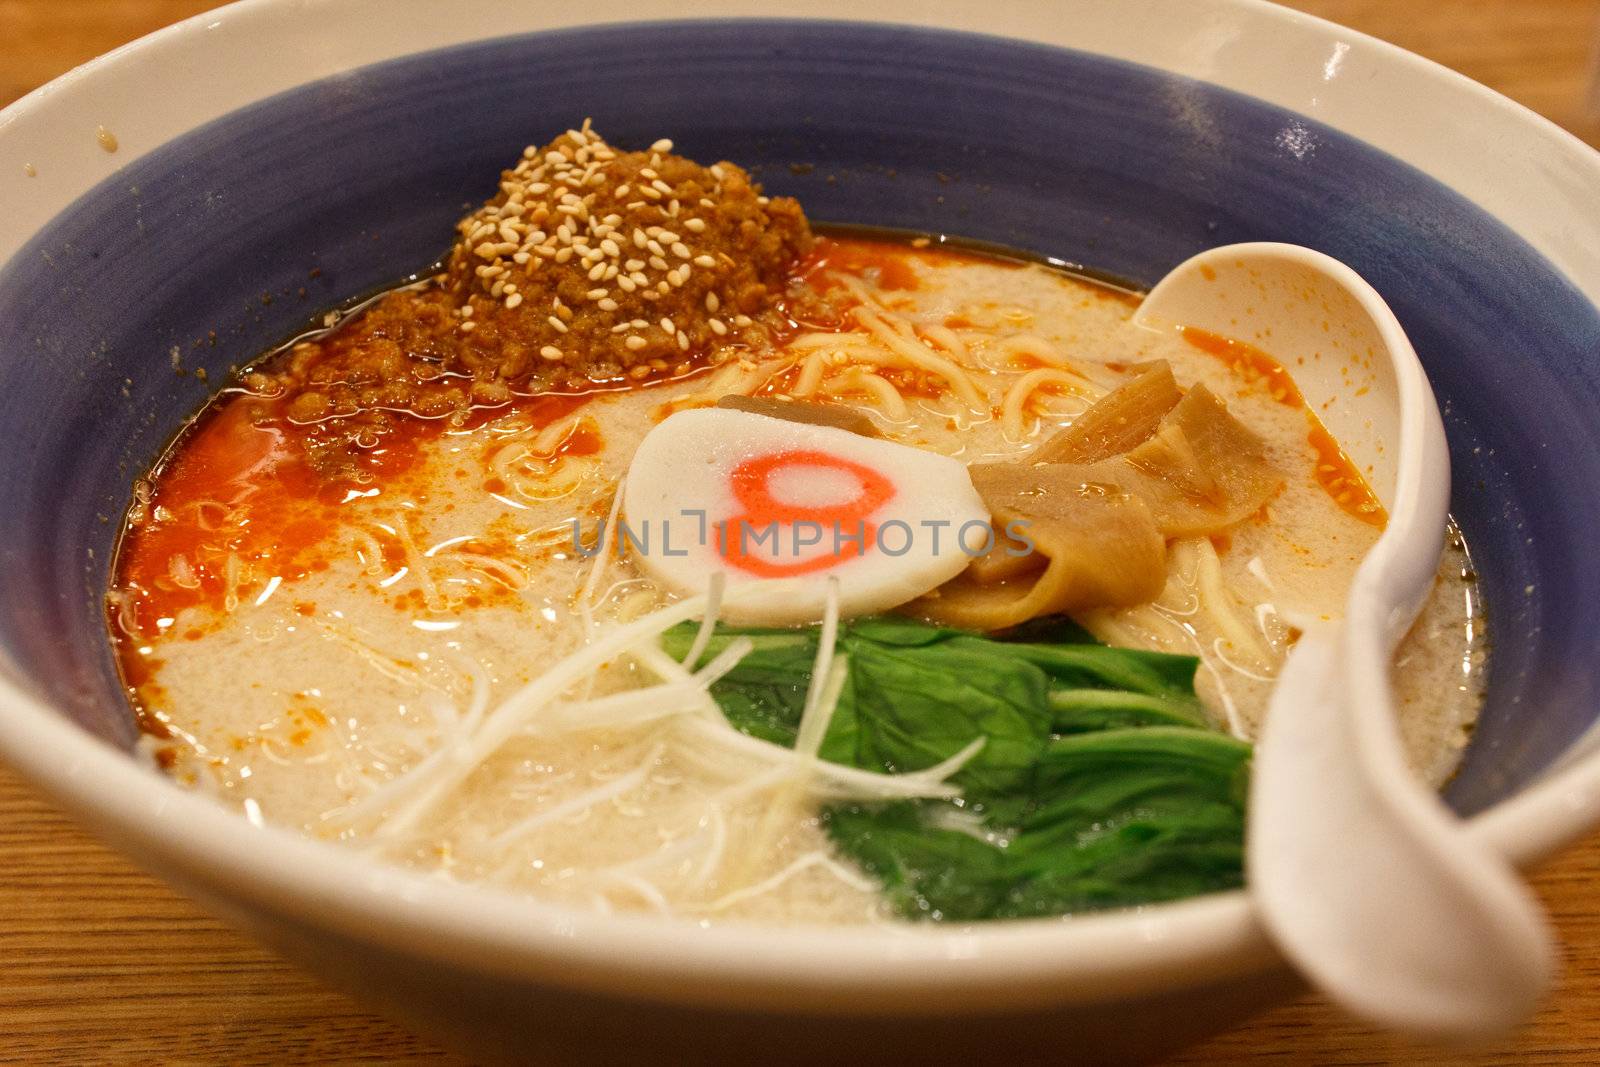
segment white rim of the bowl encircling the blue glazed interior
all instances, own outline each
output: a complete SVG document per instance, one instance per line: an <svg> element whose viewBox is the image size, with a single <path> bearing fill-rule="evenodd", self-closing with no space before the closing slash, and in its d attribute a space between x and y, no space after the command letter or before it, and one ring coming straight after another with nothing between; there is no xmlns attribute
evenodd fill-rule
<svg viewBox="0 0 1600 1067"><path fill-rule="evenodd" d="M405 16L397 6L408 8ZM37 160L42 176L22 176L16 173L21 168L0 174L0 200L16 206L0 219L0 262L118 166L267 94L470 40L680 14L674 0L634 0L626 13L622 8L586 5L582 18L571 18L565 5L554 3L243 0L179 22L0 110L6 158ZM760 6L749 0L710 0L694 11L696 18L758 13ZM790 5L786 16L859 21L859 5L808 0ZM1154 34L1152 42L1146 32L1181 19L1189 19L1182 50L1174 34ZM1576 211L1582 194L1600 187L1600 154L1518 104L1392 45L1262 0L1062 0L1048 6L880 0L869 21L1082 48L1301 110L1474 200L1600 302L1595 213L1589 210L1586 219ZM1238 27L1274 34L1285 62L1270 69L1219 62ZM1194 48L1197 35L1214 46ZM317 48L288 50L312 37ZM264 54L296 54L299 61L267 64L259 59ZM1318 93L1307 93L1304 70L1315 66L1309 62L1314 56L1326 77ZM166 78L163 94L154 101L128 91L150 67L160 67ZM1355 88L1371 80L1379 85ZM1411 101L1413 110L1440 101L1462 106L1474 126L1418 136L1389 114L1394 109L1373 104L1384 93ZM1307 99L1314 107L1304 107ZM99 115L104 118L96 122ZM126 152L106 155L93 147L94 125L117 131ZM85 136L61 136L70 128ZM1496 136L1523 150L1469 152ZM1526 195L1526 182L1539 176L1546 187L1557 184L1555 195ZM1574 219L1581 224L1573 226ZM6 712L0 715L0 755L142 862L213 901L246 901L280 915L304 915L307 923L368 944L462 968L662 1001L918 1014L1096 1003L1278 963L1243 893L1070 921L701 929L453 885L286 830L251 827L53 712L13 681L19 675L14 665L0 659L0 707ZM1528 864L1597 822L1600 753L1589 752L1472 825L1510 859Z"/></svg>

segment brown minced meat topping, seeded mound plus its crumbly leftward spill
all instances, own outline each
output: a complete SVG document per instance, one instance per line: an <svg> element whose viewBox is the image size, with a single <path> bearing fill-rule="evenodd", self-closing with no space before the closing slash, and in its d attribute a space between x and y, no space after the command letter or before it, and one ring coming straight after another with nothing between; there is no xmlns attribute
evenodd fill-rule
<svg viewBox="0 0 1600 1067"><path fill-rule="evenodd" d="M246 376L314 459L395 418L688 373L765 347L811 248L800 205L670 141L619 152L586 122L530 146L458 226L445 270Z"/></svg>

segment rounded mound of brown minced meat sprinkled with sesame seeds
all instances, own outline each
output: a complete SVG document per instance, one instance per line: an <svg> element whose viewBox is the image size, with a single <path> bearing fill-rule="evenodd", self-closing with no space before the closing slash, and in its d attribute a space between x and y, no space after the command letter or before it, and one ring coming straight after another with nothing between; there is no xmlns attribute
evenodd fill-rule
<svg viewBox="0 0 1600 1067"><path fill-rule="evenodd" d="M670 141L618 152L587 123L523 152L459 230L446 283L464 358L507 376L642 378L741 338L811 245L800 205L733 163L701 166Z"/></svg>

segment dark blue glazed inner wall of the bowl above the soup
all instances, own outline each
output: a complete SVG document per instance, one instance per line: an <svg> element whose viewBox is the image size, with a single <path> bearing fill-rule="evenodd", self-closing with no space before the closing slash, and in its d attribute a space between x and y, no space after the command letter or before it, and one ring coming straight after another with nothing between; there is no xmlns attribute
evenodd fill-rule
<svg viewBox="0 0 1600 1067"><path fill-rule="evenodd" d="M586 115L616 144L744 163L813 219L1146 285L1230 242L1344 259L1434 381L1483 576L1490 699L1450 801L1507 797L1600 712L1600 315L1533 248L1392 157L1200 82L803 21L563 30L354 70L163 146L37 234L0 267L0 653L42 699L131 744L101 597L133 478L229 368L430 264L501 166Z"/></svg>

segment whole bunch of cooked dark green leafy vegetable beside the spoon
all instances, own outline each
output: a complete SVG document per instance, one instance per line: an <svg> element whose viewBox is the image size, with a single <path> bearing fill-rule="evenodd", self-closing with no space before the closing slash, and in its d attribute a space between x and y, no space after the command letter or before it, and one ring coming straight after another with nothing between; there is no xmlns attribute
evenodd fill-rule
<svg viewBox="0 0 1600 1067"><path fill-rule="evenodd" d="M694 633L662 646L682 657ZM818 627L717 627L701 662L734 637L755 648L712 696L738 729L792 745ZM822 813L902 915L1062 915L1242 883L1250 745L1210 726L1195 657L1106 648L1062 621L995 640L902 617L843 624L837 653L848 675L822 758L906 773L984 737L952 779L958 805Z"/></svg>

